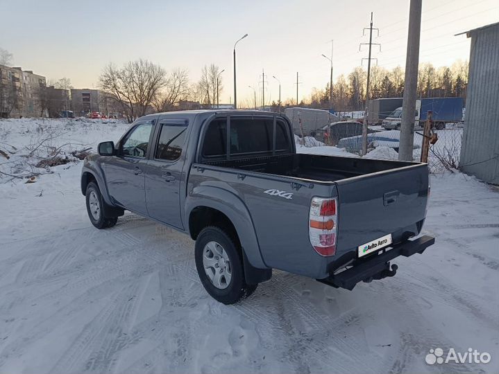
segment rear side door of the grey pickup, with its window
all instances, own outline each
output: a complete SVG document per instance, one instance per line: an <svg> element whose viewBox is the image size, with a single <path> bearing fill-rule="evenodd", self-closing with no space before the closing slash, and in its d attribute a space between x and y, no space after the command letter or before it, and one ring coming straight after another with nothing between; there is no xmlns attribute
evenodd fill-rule
<svg viewBox="0 0 499 374"><path fill-rule="evenodd" d="M183 229L180 217L180 180L187 121L160 120L155 147L147 163L146 204L149 216Z"/></svg>

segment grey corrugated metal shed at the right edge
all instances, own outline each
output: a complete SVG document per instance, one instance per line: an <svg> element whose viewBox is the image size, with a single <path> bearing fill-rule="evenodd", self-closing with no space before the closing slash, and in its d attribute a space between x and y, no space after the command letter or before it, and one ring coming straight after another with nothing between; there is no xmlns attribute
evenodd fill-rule
<svg viewBox="0 0 499 374"><path fill-rule="evenodd" d="M459 169L499 184L499 22L466 36L471 53Z"/></svg>

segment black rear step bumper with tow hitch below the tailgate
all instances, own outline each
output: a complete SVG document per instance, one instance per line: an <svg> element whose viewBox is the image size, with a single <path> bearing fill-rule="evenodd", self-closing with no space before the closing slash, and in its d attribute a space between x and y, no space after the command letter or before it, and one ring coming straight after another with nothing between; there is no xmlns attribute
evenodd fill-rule
<svg viewBox="0 0 499 374"><path fill-rule="evenodd" d="M397 265L390 266L390 260L398 256L409 257L414 253L423 253L434 242L435 238L428 235L421 236L421 238L415 240L407 240L391 247L389 251L378 255L373 254L366 258L359 258L350 264L352 267L349 269L337 274L331 274L328 278L317 279L317 281L331 285L332 287L353 290L353 287L361 281L371 282L374 279L394 276L397 271Z"/></svg>

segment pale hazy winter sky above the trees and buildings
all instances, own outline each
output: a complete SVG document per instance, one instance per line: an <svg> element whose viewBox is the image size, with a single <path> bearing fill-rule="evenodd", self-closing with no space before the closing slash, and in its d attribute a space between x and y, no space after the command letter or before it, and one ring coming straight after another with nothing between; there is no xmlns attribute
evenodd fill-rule
<svg viewBox="0 0 499 374"><path fill-rule="evenodd" d="M97 88L109 62L145 58L164 69L183 68L192 82L204 65L226 69L221 103L233 100L232 48L237 44L237 98L261 103L310 96L313 87L348 74L367 57L363 28L380 29L373 57L387 69L405 67L409 0L1 0L0 47L14 65L46 76L71 79L75 88ZM457 33L499 21L498 0L423 0L420 64L450 65L467 60L470 40ZM331 40L334 40L332 43ZM364 67L366 62L364 61Z"/></svg>

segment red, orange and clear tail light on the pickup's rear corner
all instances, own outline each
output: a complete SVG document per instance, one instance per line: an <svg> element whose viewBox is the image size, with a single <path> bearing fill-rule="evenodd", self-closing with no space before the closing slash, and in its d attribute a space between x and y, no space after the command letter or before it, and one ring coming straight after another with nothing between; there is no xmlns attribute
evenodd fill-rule
<svg viewBox="0 0 499 374"><path fill-rule="evenodd" d="M330 197L314 197L310 204L310 244L321 256L336 253L338 233L338 201Z"/></svg>

